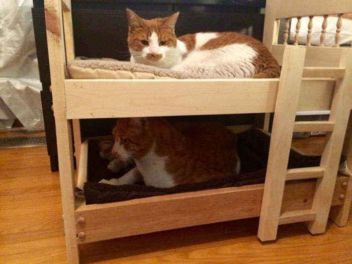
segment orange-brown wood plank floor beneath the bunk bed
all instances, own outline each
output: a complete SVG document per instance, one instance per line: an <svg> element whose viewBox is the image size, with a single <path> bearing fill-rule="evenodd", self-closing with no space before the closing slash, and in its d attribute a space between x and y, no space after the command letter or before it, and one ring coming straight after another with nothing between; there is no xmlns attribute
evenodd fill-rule
<svg viewBox="0 0 352 264"><path fill-rule="evenodd" d="M311 152L321 142L311 142ZM0 263L66 262L60 202L45 147L0 150ZM315 236L303 223L280 226L272 243L258 241L257 226L251 218L85 244L81 262L352 263L350 219Z"/></svg>

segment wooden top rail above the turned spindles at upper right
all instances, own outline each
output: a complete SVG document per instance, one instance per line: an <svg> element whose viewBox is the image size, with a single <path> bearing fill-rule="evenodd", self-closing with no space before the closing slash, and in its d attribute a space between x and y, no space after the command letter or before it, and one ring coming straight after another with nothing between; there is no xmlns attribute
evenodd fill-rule
<svg viewBox="0 0 352 264"><path fill-rule="evenodd" d="M276 1L275 19L352 13L350 0Z"/></svg>

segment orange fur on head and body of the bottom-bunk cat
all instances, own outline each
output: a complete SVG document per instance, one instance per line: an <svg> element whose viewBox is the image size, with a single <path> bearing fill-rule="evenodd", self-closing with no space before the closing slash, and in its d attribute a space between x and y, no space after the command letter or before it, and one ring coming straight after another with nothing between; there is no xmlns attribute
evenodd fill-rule
<svg viewBox="0 0 352 264"><path fill-rule="evenodd" d="M218 123L171 125L164 118L121 118L113 131L135 159L146 155L155 144L155 153L167 156L168 173L177 184L195 183L235 175L237 138Z"/></svg>

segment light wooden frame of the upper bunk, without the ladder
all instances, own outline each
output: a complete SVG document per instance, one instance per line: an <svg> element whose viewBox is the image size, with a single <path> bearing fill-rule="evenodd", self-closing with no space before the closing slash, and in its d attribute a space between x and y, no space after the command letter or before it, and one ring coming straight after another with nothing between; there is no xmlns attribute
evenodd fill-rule
<svg viewBox="0 0 352 264"><path fill-rule="evenodd" d="M273 1L268 0L268 2ZM64 83L64 91L63 93L59 91L62 86L55 85L55 81L52 81L52 90L54 96L60 93L65 98L67 119L271 113L275 111L282 76L272 79L67 78L66 62L69 65L74 61L70 1L65 0L62 9L56 7L60 9L58 14L61 13L60 11L63 14L62 17L59 16L59 21L62 21L63 25L61 31L55 25L57 21L55 5L48 4L54 2L56 1L45 1L48 43L51 43L51 47L55 47L52 50L49 49L50 68L51 72L58 73L53 74L52 79L57 79L57 83ZM293 4L290 1L278 1L278 3L282 7L274 9L275 5L271 3L272 8L266 10L263 43L272 52L279 65L287 67L287 70L297 66L295 58L289 56L291 50L305 49L297 111L330 110L336 81L346 74L351 74L346 71L351 49L339 45L342 21L344 21L343 13L352 12L352 7L348 5L349 0L341 0L337 4L332 4L328 0L311 0L301 4ZM276 14L276 10L285 12ZM326 10L329 10L328 15L326 15ZM326 47L324 41L330 14L336 20L334 44L332 47ZM312 15L322 16L323 21L319 25L321 32L317 46L313 46L312 41L314 39L312 27L316 25L313 24ZM308 16L305 18L308 19L308 25L304 30L301 28L301 22L305 16ZM294 28L294 34L292 28ZM282 44L278 44L280 29L284 29ZM306 43L303 44L300 34L305 31L307 32ZM55 59L59 63L55 63Z"/></svg>

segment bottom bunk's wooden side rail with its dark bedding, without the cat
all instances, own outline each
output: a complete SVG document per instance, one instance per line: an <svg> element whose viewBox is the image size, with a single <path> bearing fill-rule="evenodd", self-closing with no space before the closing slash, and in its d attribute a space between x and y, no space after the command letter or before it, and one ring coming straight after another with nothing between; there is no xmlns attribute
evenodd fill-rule
<svg viewBox="0 0 352 264"><path fill-rule="evenodd" d="M211 189L209 182L207 185L193 184L193 186L188 185L187 191L179 187L177 191L183 191L182 193L168 194L161 192L162 190L151 190L152 188L146 186L135 186L133 188L87 183L84 187L84 195L87 198L87 203L91 204L87 204L83 196L77 199L78 204L75 210L77 243L258 217L263 196L263 181L265 180L262 177L265 176L265 168L262 168L262 164L265 164L263 160L268 156L270 137L259 130L249 130L242 135L244 137L239 137L239 140L242 138L242 142L244 141L245 144L242 145L241 150L239 149L240 155L242 157L247 155L247 158L252 158L251 162L243 162L241 172L244 173L239 174L239 178L243 181L236 183L218 181L217 186L212 186L212 188L217 189ZM243 148L244 145L245 148ZM256 151L253 151L253 146L257 146ZM255 155L253 155L253 152L256 152ZM305 160L306 166L315 166L316 162L319 163L320 156L303 155L293 148L291 150L290 166L302 167L304 166L302 160ZM107 174L102 171L103 168L106 168L106 165L107 161L99 157L97 141L83 142L78 185L85 182L86 179L98 182L104 177L107 179L113 177L112 172ZM107 172L107 169L105 172ZM248 173L252 173L254 177L249 179ZM345 183L347 182L348 177L339 175L335 185L332 206L344 203ZM291 181L286 184L280 224L294 222L297 214L302 217L302 213L305 221L314 219L315 214L311 207L315 183L315 179L310 179ZM209 190L201 190L201 188ZM154 193L151 191L154 191ZM116 192L118 195L116 195ZM113 201L113 199L120 200L118 200L119 202L104 203Z"/></svg>

